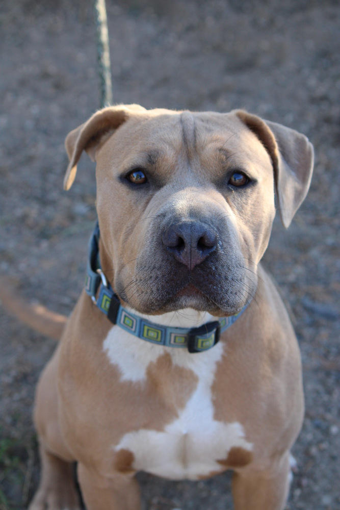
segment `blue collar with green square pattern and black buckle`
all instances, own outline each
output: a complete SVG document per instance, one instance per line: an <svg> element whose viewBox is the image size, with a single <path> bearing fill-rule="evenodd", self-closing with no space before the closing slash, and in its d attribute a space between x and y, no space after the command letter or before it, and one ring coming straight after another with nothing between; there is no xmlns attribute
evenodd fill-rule
<svg viewBox="0 0 340 510"><path fill-rule="evenodd" d="M100 267L98 242L99 225L97 221L89 242L85 290L93 303L107 315L113 324L117 324L138 338L168 347L186 347L189 352L202 352L214 347L219 341L222 331L230 327L248 306L247 303L236 315L221 317L200 327L185 328L155 324L122 307L119 297L114 293Z"/></svg>

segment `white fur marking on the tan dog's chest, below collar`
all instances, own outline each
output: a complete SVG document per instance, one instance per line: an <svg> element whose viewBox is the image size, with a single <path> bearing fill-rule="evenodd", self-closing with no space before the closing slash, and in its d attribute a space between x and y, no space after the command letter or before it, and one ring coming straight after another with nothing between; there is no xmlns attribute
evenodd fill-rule
<svg viewBox="0 0 340 510"><path fill-rule="evenodd" d="M121 341L115 338L116 335ZM113 446L116 452L124 450L133 454L133 469L170 479L194 480L221 471L231 448L252 449L240 423L214 419L212 385L217 363L223 354L222 344L205 353L190 354L185 349L165 348L148 344L128 333L125 336L123 332L123 335L124 339L121 330L114 328L104 342L104 350L110 361L118 365L122 381L145 384L148 367L165 352L171 355L174 368L189 369L195 375L190 395L177 406L170 421L160 428L155 425L159 417L150 416L147 428L125 433ZM124 348L120 348L121 344ZM185 385L185 380L182 384ZM177 391L181 388L177 387Z"/></svg>

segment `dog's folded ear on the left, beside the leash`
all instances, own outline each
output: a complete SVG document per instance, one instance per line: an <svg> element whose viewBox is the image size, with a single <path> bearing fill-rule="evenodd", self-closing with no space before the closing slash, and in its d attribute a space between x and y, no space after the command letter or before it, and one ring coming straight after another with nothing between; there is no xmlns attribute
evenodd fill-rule
<svg viewBox="0 0 340 510"><path fill-rule="evenodd" d="M139 105L112 106L99 110L90 119L71 131L65 140L69 165L64 178L64 189L69 190L75 179L77 163L83 150L95 161L96 151L108 136L125 122L134 112L145 111Z"/></svg>

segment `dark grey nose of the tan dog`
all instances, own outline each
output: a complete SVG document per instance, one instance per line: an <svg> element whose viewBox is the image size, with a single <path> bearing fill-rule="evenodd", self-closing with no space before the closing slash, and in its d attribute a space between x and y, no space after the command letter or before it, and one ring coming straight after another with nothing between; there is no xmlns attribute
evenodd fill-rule
<svg viewBox="0 0 340 510"><path fill-rule="evenodd" d="M218 235L215 228L198 221L172 223L162 234L163 244L190 270L215 250Z"/></svg>

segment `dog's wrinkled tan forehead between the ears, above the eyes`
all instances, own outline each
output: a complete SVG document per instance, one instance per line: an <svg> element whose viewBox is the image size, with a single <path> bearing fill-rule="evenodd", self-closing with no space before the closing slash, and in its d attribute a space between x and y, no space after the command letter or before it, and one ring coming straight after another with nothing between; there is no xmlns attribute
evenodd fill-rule
<svg viewBox="0 0 340 510"><path fill-rule="evenodd" d="M178 163L208 169L269 162L266 149L233 113L151 110L133 115L111 140L103 152L117 168L161 163L166 171Z"/></svg>

